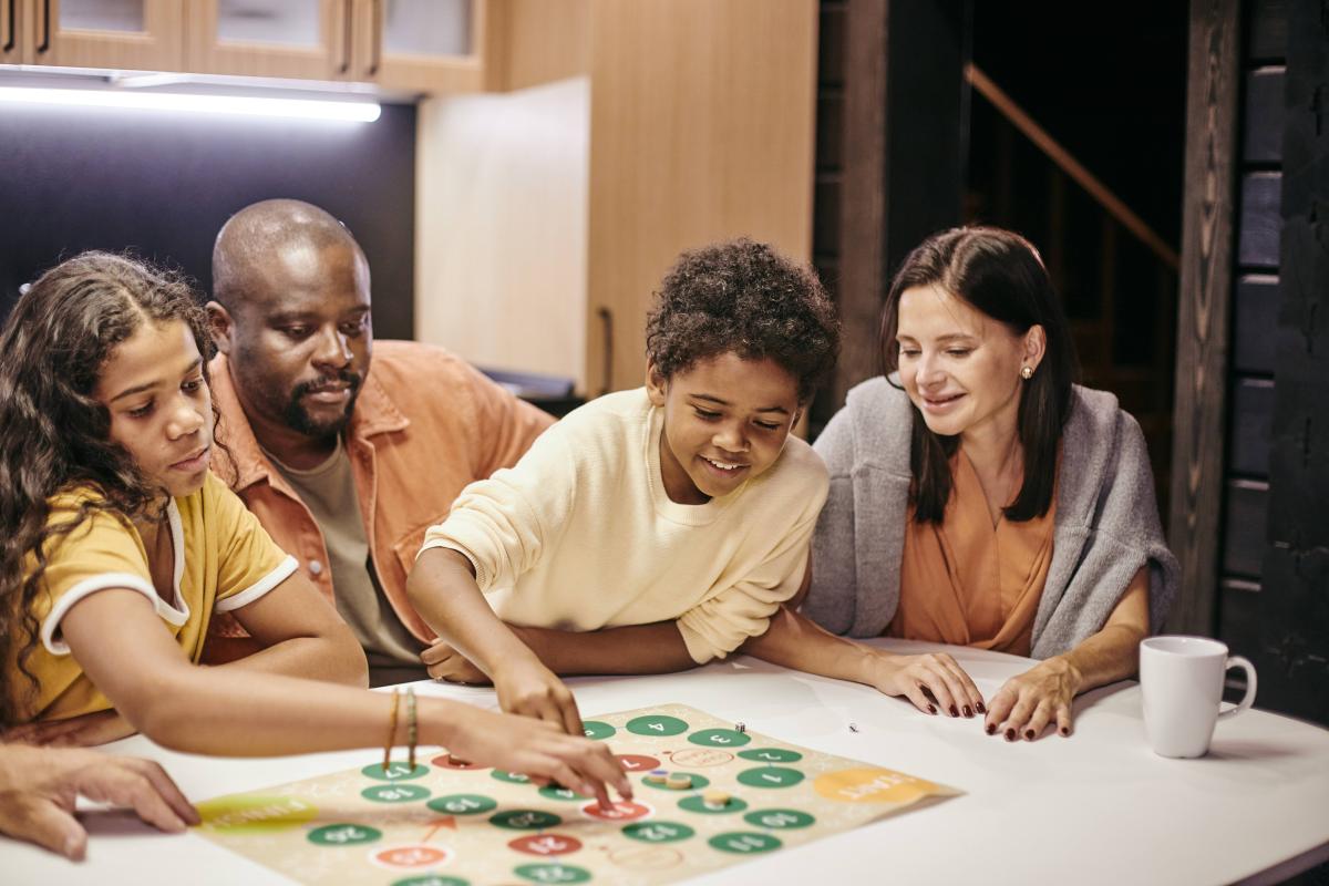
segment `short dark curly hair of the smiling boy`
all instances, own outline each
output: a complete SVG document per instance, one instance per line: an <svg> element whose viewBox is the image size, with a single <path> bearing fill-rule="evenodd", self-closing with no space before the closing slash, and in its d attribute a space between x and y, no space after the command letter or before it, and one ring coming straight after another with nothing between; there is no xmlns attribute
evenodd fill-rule
<svg viewBox="0 0 1329 886"><path fill-rule="evenodd" d="M816 274L747 238L683 252L646 315L646 356L672 379L730 351L775 360L797 381L799 402L811 400L840 351Z"/></svg>

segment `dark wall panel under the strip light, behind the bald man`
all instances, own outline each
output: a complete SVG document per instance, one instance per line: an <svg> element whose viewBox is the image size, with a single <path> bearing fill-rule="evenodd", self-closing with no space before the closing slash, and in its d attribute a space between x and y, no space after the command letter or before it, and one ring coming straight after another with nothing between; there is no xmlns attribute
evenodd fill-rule
<svg viewBox="0 0 1329 886"><path fill-rule="evenodd" d="M238 209L294 197L352 230L380 337L411 337L415 108L372 124L0 106L0 313L82 250L133 250L211 286L213 238Z"/></svg>

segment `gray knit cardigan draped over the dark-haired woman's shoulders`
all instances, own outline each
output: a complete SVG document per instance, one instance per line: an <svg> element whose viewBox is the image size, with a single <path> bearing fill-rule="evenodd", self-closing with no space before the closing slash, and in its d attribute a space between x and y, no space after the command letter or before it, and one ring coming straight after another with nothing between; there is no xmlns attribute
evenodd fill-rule
<svg viewBox="0 0 1329 886"><path fill-rule="evenodd" d="M836 634L878 636L900 603L912 425L909 397L878 376L849 392L816 441L831 494L812 542L803 612ZM1096 634L1146 562L1150 630L1158 631L1179 567L1159 525L1144 436L1115 396L1076 385L1033 656L1059 655Z"/></svg>

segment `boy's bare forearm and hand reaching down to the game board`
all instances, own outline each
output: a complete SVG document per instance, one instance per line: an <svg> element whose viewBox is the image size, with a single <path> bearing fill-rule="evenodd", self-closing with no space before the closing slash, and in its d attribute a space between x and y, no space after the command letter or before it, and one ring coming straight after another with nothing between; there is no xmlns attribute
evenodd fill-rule
<svg viewBox="0 0 1329 886"><path fill-rule="evenodd" d="M411 570L407 594L420 618L493 681L504 711L582 735L573 693L489 608L470 561L445 547L427 549Z"/></svg>

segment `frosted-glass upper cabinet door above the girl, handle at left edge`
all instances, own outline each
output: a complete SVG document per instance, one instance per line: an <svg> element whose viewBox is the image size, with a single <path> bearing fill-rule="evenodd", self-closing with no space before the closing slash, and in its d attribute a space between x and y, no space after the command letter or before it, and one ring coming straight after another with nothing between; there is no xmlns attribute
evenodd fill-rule
<svg viewBox="0 0 1329 886"><path fill-rule="evenodd" d="M20 25L32 35L28 64L182 70L183 4L178 0L0 0L0 4L5 19L0 29L8 29L11 20L29 16ZM0 45L8 45L9 39L7 33Z"/></svg>

